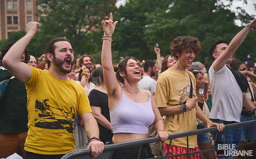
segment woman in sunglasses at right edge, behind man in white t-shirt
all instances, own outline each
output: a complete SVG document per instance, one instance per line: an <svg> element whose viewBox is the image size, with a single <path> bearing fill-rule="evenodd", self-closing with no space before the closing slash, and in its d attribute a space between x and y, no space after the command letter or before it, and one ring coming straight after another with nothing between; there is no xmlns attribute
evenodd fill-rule
<svg viewBox="0 0 256 159"><path fill-rule="evenodd" d="M234 69L235 71L239 71L241 72L246 78L251 77L251 72L250 69L247 68L246 64L243 62L237 62L232 66L232 69ZM252 73L254 75L254 77L256 76L254 73ZM248 89L246 92L246 96L251 100L251 101L255 101L256 98L256 86L251 83L248 82ZM253 117L253 112L249 111L246 107L243 106L242 112L241 112L241 117L240 117L240 121L244 122L244 121L251 121L254 120ZM252 142L256 142L256 124L252 124L250 129L249 126L242 126L242 139L240 141L240 145L241 144L246 144L247 138L248 138L248 143L252 143ZM245 146L239 147L238 150L245 150ZM247 147L246 150L256 150L256 145L250 145ZM256 151L254 151L253 156L256 156ZM239 156L238 159L243 159L242 156Z"/></svg>

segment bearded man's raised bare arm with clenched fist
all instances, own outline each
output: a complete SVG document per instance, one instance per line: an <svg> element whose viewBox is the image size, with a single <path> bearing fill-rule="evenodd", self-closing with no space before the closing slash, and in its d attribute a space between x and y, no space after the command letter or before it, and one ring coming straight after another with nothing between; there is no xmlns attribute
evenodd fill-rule
<svg viewBox="0 0 256 159"><path fill-rule="evenodd" d="M29 22L26 35L13 44L3 58L5 68L21 82L27 82L31 78L30 67L26 63L20 62L20 59L29 41L36 34L38 25L39 23L37 22Z"/></svg>

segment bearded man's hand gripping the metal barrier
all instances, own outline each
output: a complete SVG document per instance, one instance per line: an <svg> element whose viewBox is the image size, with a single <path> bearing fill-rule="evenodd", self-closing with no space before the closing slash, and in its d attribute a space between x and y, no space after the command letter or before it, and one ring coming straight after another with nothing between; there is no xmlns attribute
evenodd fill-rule
<svg viewBox="0 0 256 159"><path fill-rule="evenodd" d="M95 159L103 152L104 143L102 141L94 140L89 143L88 148L91 148L91 158Z"/></svg>

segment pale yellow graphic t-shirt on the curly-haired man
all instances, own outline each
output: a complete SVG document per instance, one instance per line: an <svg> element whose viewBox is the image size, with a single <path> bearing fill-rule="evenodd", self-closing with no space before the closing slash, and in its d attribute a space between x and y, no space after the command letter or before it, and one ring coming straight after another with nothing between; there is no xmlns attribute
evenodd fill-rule
<svg viewBox="0 0 256 159"><path fill-rule="evenodd" d="M193 73L189 72L193 84L193 94L196 96L196 78ZM190 92L190 78L187 71L178 71L168 68L165 72L161 73L157 79L157 89L155 93L155 100L157 107L167 107L180 105L188 99ZM181 107L180 107L181 109ZM185 131L196 130L196 109L186 111L184 113L166 116L165 118L165 131L168 134L175 134ZM188 137L188 147L197 147L197 135ZM170 144L170 140L165 141ZM171 145L187 147L187 138L172 139Z"/></svg>

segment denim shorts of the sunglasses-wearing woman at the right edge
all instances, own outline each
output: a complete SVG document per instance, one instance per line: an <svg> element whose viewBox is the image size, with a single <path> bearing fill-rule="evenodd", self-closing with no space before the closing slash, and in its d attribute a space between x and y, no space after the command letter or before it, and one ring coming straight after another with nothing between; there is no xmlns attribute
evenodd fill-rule
<svg viewBox="0 0 256 159"><path fill-rule="evenodd" d="M241 122L254 120L253 116L243 116L240 118ZM248 130L250 125L242 126L242 141L246 141L248 137ZM256 139L256 124L252 124L249 131L248 143L252 143Z"/></svg>

